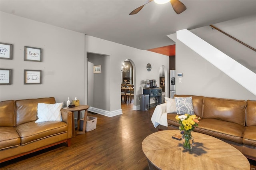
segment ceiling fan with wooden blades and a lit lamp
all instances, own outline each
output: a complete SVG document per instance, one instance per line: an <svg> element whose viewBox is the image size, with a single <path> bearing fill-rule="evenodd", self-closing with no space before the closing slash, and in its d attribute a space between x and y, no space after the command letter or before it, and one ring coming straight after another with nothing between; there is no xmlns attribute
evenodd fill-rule
<svg viewBox="0 0 256 170"><path fill-rule="evenodd" d="M148 0L144 5L148 4L151 1L153 0ZM176 14L180 14L187 9L186 6L179 0L154 0L154 2L156 2L157 4L165 4L167 2L171 2L172 8L176 12ZM140 6L139 8L136 8L129 15L137 14L144 7L144 5Z"/></svg>

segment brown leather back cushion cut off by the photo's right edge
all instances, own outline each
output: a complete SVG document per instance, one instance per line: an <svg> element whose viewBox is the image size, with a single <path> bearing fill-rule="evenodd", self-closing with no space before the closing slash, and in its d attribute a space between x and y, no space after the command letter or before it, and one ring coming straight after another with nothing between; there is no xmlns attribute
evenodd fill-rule
<svg viewBox="0 0 256 170"><path fill-rule="evenodd" d="M256 126L256 101L247 101L246 126Z"/></svg>

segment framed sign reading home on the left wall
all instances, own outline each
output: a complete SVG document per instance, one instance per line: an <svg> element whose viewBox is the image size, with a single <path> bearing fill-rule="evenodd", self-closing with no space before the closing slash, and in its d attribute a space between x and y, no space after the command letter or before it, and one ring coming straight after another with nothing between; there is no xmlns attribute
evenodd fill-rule
<svg viewBox="0 0 256 170"><path fill-rule="evenodd" d="M24 60L25 61L42 61L42 49L35 47L24 46Z"/></svg>

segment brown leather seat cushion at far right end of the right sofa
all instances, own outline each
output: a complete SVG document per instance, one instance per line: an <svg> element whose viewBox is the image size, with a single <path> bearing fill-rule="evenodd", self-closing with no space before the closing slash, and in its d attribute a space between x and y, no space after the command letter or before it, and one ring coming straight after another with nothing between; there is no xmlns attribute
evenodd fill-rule
<svg viewBox="0 0 256 170"><path fill-rule="evenodd" d="M243 144L256 147L256 126L245 127Z"/></svg>

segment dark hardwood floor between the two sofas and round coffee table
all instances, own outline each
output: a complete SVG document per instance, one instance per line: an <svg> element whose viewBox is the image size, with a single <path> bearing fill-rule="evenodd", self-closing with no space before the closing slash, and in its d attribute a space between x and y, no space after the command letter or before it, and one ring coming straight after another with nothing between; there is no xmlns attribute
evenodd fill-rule
<svg viewBox="0 0 256 170"><path fill-rule="evenodd" d="M123 115L112 118L88 113L98 117L97 128L72 138L70 147L59 144L3 162L1 170L148 170L141 144L158 131L151 123L154 107L149 111L132 107L133 103L122 102Z"/></svg>

